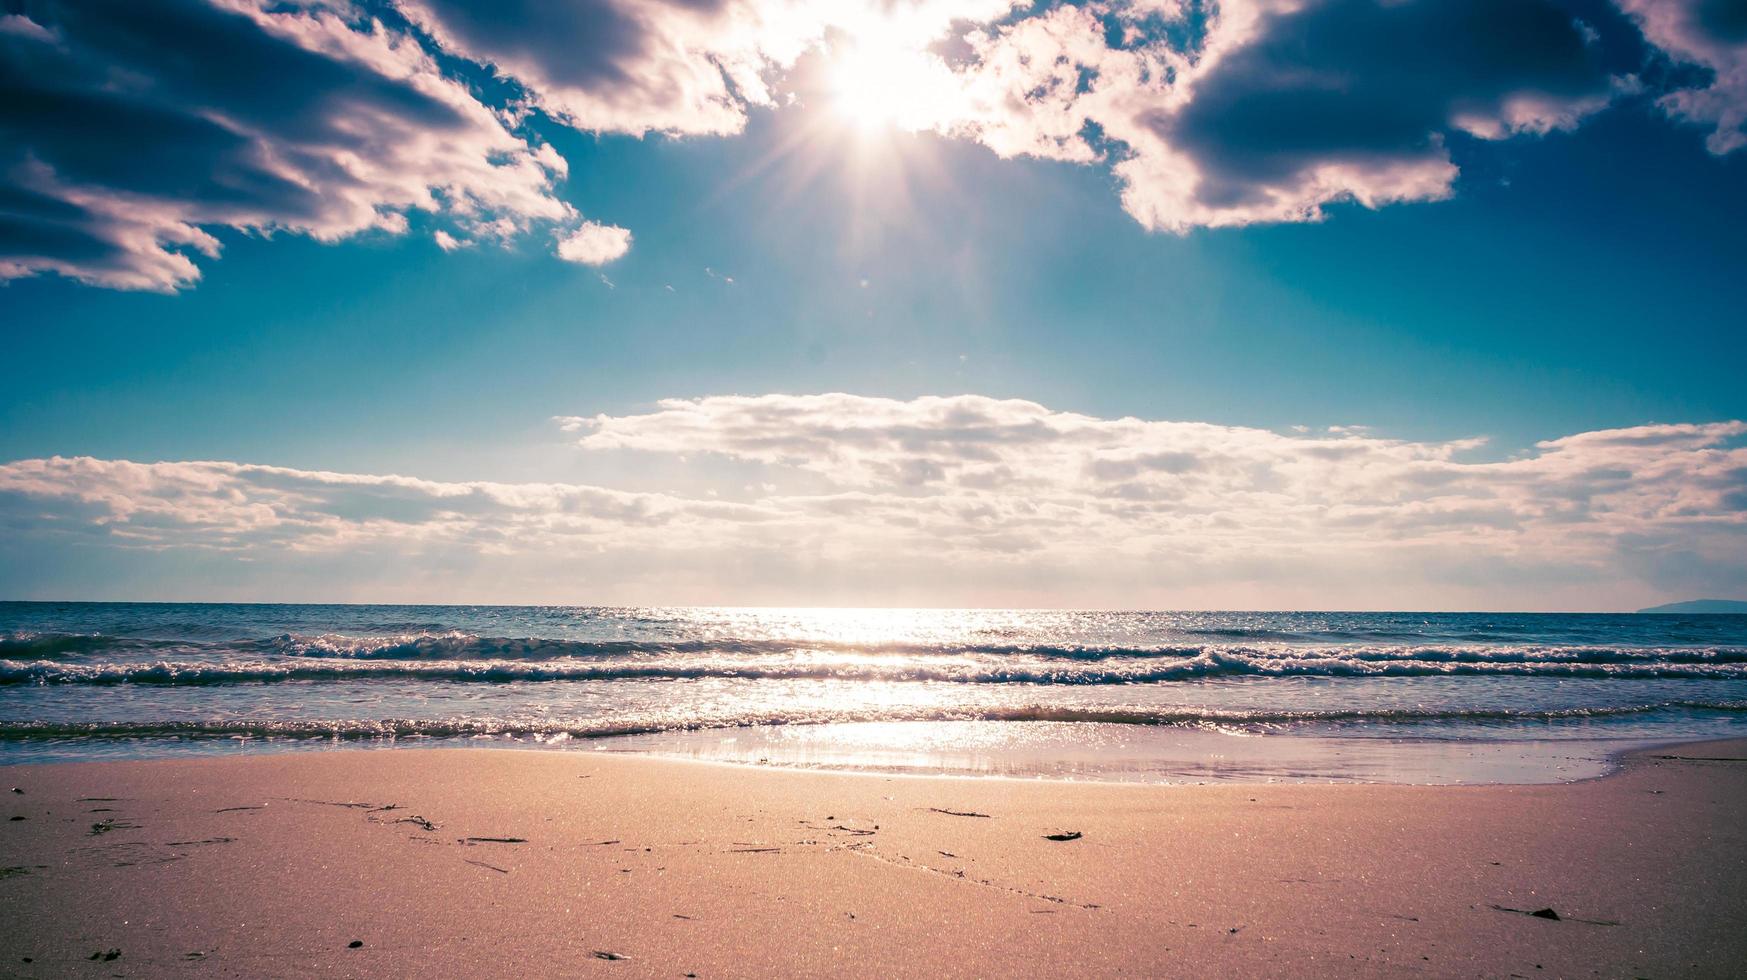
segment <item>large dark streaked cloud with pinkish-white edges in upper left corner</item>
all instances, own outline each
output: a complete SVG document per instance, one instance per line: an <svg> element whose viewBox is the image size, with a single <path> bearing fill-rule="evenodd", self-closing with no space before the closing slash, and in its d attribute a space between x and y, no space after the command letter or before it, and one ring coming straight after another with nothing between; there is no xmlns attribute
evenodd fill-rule
<svg viewBox="0 0 1747 980"><path fill-rule="evenodd" d="M335 241L409 211L503 238L571 217L561 173L339 5L33 2L0 30L0 280L169 292L213 229Z"/></svg>

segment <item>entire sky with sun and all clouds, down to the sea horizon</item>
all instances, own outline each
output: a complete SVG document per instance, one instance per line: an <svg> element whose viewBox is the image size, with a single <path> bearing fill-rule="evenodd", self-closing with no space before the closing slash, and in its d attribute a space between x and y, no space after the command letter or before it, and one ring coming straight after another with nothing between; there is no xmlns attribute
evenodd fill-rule
<svg viewBox="0 0 1747 980"><path fill-rule="evenodd" d="M1747 597L1747 0L0 5L0 597Z"/></svg>

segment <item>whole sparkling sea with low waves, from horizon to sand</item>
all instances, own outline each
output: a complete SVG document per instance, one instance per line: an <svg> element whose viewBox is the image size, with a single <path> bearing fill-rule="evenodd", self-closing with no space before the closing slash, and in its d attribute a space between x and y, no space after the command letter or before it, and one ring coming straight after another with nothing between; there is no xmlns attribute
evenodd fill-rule
<svg viewBox="0 0 1747 980"><path fill-rule="evenodd" d="M1747 615L0 603L0 763L641 751L1543 783L1747 735Z"/></svg>

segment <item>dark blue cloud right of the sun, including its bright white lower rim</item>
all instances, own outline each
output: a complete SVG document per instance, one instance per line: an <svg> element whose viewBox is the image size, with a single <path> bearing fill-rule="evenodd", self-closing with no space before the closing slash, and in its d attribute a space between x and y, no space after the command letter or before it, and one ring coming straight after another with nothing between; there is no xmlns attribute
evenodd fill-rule
<svg viewBox="0 0 1747 980"><path fill-rule="evenodd" d="M1314 218L1329 201L1447 197L1452 133L1569 128L1611 82L1579 24L1537 0L1333 0L1267 16L1144 115L1118 173L1151 227ZM1179 183L1179 168L1193 173Z"/></svg>

